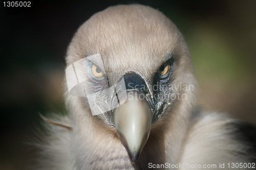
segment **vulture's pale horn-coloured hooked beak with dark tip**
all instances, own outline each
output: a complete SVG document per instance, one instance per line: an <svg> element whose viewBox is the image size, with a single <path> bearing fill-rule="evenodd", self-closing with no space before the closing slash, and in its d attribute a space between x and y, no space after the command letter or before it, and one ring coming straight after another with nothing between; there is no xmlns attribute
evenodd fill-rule
<svg viewBox="0 0 256 170"><path fill-rule="evenodd" d="M136 81L144 82L139 75L129 72L128 78L124 75L125 84ZM133 82L134 83L134 82ZM131 87L131 86L130 86ZM135 163L147 142L152 123L152 105L141 89L127 89L127 100L114 109L113 120L117 135L124 145L132 163Z"/></svg>

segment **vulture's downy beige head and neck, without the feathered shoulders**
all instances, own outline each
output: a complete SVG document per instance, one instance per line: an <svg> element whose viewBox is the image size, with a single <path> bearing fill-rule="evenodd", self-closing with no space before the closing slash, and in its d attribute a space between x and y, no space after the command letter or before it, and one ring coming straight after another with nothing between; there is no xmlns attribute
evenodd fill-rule
<svg viewBox="0 0 256 170"><path fill-rule="evenodd" d="M78 29L66 62L71 146L80 169L178 160L196 82L172 21L142 5L107 8Z"/></svg>

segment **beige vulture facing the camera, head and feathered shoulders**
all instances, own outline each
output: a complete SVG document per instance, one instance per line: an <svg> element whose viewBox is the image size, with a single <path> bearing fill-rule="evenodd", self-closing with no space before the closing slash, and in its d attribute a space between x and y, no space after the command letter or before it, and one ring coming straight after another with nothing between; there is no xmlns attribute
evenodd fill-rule
<svg viewBox="0 0 256 170"><path fill-rule="evenodd" d="M94 14L66 64L68 114L42 116L38 169L256 167L244 123L197 106L188 47L160 11L118 5Z"/></svg>

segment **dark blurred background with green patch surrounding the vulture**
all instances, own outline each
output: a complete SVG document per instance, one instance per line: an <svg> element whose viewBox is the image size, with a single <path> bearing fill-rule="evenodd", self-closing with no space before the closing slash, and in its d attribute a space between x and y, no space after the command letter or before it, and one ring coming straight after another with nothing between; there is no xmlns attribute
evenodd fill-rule
<svg viewBox="0 0 256 170"><path fill-rule="evenodd" d="M256 1L32 1L0 5L0 169L33 169L28 143L41 119L65 112L62 79L67 46L94 13L117 4L159 9L183 33L208 109L256 125Z"/></svg>

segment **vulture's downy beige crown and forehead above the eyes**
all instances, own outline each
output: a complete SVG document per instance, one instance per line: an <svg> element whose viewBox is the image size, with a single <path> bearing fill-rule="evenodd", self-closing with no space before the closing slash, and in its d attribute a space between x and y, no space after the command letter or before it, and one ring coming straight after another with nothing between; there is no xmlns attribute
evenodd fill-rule
<svg viewBox="0 0 256 170"><path fill-rule="evenodd" d="M95 14L79 28L68 56L100 54L106 72L134 70L149 78L177 51L179 38L178 29L161 12L144 6L117 6Z"/></svg>

